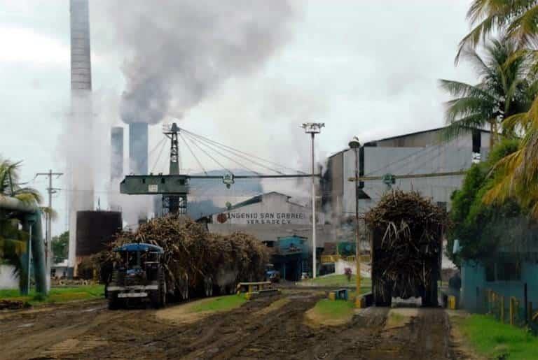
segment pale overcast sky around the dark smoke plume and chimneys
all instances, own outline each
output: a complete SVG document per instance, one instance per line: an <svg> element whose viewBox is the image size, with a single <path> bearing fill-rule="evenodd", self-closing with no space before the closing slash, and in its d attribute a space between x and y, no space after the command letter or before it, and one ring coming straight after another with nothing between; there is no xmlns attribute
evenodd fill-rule
<svg viewBox="0 0 538 360"><path fill-rule="evenodd" d="M120 124L124 55L103 1L90 0L92 75L96 111L109 127ZM453 63L469 30L470 2L298 3L280 50L255 73L223 82L180 126L293 168L308 168L310 161L301 122L326 124L317 137L319 159L342 150L354 135L369 141L439 127L447 96L436 81L476 81L469 67ZM0 155L23 161L23 180L49 168L64 171L58 141L69 109L69 1L0 0L0 44ZM150 132L152 148L160 125ZM108 141L96 148L107 149ZM108 169L108 161L103 166ZM44 181L32 185L44 193ZM69 190L61 179L56 184ZM98 185L96 196L101 191L106 189ZM65 201L55 197L58 233L65 229Z"/></svg>

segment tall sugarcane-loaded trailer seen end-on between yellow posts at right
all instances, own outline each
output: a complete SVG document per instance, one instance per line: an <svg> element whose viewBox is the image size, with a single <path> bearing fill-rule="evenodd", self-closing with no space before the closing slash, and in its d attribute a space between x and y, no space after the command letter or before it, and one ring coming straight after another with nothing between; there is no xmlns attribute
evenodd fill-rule
<svg viewBox="0 0 538 360"><path fill-rule="evenodd" d="M415 296L422 297L422 305L437 305L446 211L418 192L393 191L366 214L366 223L375 304Z"/></svg>

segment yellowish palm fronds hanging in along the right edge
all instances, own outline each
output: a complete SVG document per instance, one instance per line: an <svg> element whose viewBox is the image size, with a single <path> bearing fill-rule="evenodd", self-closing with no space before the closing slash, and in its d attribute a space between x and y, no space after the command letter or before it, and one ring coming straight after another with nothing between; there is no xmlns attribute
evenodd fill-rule
<svg viewBox="0 0 538 360"><path fill-rule="evenodd" d="M517 55L530 58L531 73L538 72L538 0L474 0L467 17L475 26L460 42L456 62L467 48L476 48L498 32L515 43ZM513 197L538 219L538 96L525 112L509 115L505 115L503 128L518 131L520 145L495 165L499 175L484 201L502 203Z"/></svg>

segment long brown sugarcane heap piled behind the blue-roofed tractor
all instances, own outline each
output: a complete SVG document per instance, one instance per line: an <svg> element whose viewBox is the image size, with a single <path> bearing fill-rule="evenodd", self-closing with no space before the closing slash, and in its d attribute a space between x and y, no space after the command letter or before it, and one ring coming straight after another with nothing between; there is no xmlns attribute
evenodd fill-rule
<svg viewBox="0 0 538 360"><path fill-rule="evenodd" d="M124 231L116 236L110 250L100 256L102 280L111 273L111 263L118 256L114 247L126 243L149 243L163 247L162 264L167 278L167 289L201 291L207 281L215 285L219 274L232 273L228 282L262 280L268 254L254 236L233 233L223 236L209 233L203 224L186 217L167 216L152 219L135 232ZM235 288L234 284L230 289Z"/></svg>

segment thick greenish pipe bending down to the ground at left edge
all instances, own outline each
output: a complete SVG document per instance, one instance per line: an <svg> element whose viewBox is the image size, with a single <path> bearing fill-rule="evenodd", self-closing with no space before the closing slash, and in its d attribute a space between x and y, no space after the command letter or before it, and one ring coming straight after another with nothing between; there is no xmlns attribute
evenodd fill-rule
<svg viewBox="0 0 538 360"><path fill-rule="evenodd" d="M23 203L22 201L9 196L0 196L0 209L22 213L22 216L20 216L20 219L22 220L22 228L29 232L30 227L32 227L32 239L30 240L31 245L29 244L29 248L32 248L32 257L34 259L36 291L41 294L47 294L41 209L34 203Z"/></svg>

